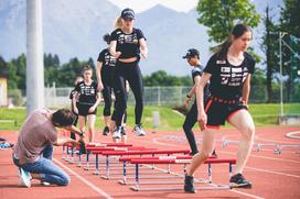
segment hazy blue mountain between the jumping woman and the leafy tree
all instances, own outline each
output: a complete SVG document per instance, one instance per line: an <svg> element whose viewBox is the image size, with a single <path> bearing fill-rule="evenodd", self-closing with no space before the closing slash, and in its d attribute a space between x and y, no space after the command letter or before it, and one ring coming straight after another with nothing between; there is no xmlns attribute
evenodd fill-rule
<svg viewBox="0 0 300 199"><path fill-rule="evenodd" d="M158 69L174 75L186 75L191 68L182 56L188 48L200 49L201 56L208 57L206 29L196 22L196 12L176 12L157 5L137 15L136 26L143 31L149 47L148 60L141 62L146 74Z"/></svg>

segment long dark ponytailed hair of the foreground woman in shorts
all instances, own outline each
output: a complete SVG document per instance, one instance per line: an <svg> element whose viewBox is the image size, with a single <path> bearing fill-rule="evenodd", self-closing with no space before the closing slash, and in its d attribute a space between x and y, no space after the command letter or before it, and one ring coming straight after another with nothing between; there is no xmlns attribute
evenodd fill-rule
<svg viewBox="0 0 300 199"><path fill-rule="evenodd" d="M233 44L233 41L235 38L240 37L246 32L251 32L251 29L248 25L245 25L243 23L236 24L233 27L232 33L228 36L228 38L225 42L223 42L222 44L215 46L213 48L213 53L217 53L219 55L221 59L226 59L226 56L227 56L227 53L228 53L228 48Z"/></svg>

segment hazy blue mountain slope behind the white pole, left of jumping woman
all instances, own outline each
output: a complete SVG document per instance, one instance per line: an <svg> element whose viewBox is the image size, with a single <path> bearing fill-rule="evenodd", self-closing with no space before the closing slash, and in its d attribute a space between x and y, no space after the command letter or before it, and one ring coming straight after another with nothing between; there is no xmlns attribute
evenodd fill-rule
<svg viewBox="0 0 300 199"><path fill-rule="evenodd" d="M0 55L6 59L25 53L25 0L1 0ZM67 62L97 59L106 46L101 36L111 32L120 9L106 0L43 0L43 44L45 53ZM4 47L2 47L4 46Z"/></svg>

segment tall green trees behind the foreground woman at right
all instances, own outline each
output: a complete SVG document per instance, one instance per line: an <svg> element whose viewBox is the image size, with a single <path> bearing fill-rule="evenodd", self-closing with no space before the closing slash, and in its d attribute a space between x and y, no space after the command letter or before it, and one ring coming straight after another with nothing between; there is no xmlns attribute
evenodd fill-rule
<svg viewBox="0 0 300 199"><path fill-rule="evenodd" d="M279 8L266 7L261 18L255 10L251 0L200 0L197 19L200 24L208 27L210 42L221 43L229 35L235 23L243 22L256 27L260 20L264 22L264 36L260 42L266 55L261 59L249 48L256 60L266 65L264 81L267 87L268 102L275 101L280 80L279 37L281 36L282 75L286 99L290 101L292 95L299 93L300 84L300 1L283 0Z"/></svg>

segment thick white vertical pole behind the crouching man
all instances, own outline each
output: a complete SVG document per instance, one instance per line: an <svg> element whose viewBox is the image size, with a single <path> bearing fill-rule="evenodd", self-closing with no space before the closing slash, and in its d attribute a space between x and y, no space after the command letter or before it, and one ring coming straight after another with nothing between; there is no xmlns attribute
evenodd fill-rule
<svg viewBox="0 0 300 199"><path fill-rule="evenodd" d="M26 112L43 107L42 0L26 0Z"/></svg>

